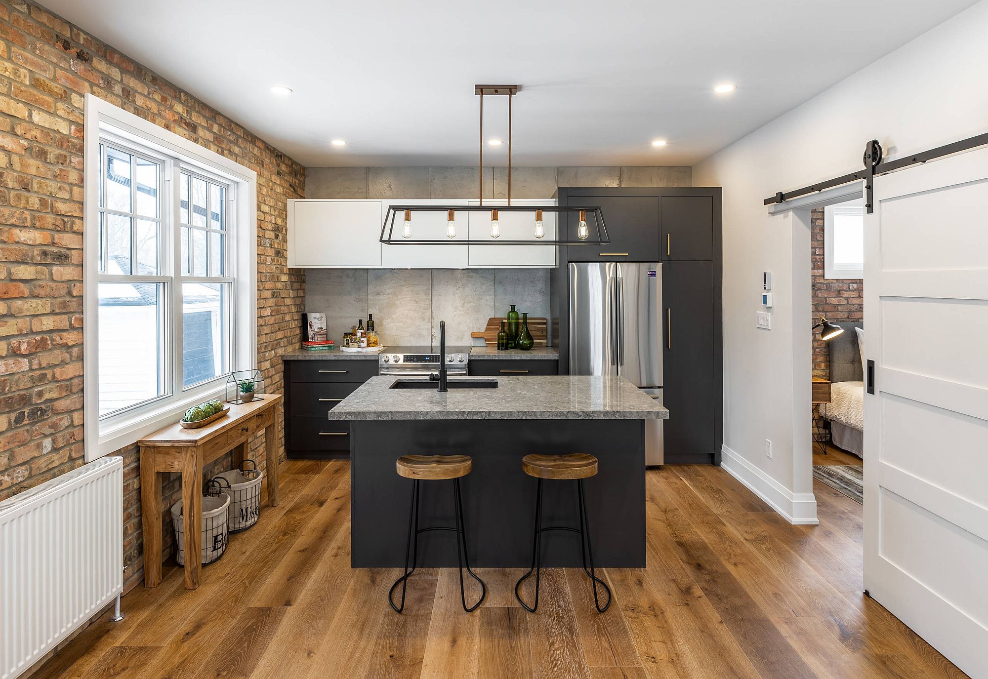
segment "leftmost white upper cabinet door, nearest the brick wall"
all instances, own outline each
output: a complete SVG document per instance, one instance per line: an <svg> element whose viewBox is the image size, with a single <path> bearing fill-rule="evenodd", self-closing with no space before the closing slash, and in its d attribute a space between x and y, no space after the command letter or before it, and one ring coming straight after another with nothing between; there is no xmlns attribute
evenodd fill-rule
<svg viewBox="0 0 988 679"><path fill-rule="evenodd" d="M288 266L381 265L380 200L288 200Z"/></svg>

